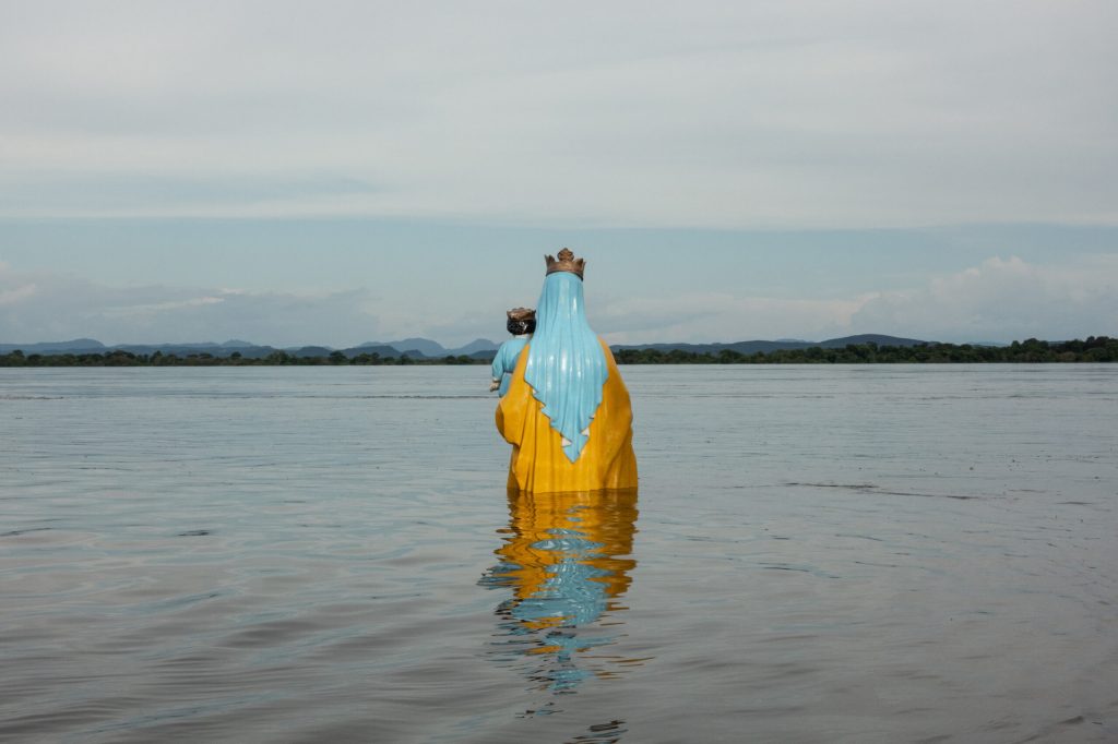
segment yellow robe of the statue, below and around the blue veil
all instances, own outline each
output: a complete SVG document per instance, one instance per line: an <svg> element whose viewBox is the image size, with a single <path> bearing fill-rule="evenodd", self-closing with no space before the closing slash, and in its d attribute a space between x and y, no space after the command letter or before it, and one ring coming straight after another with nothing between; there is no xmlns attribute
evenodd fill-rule
<svg viewBox="0 0 1118 744"><path fill-rule="evenodd" d="M574 462L562 451L562 436L551 428L543 404L532 397L532 388L524 381L531 342L521 352L509 392L496 408L498 431L512 445L510 490L547 494L636 488L628 390L609 346L598 342L606 354L608 378L601 404L590 421L589 439Z"/></svg>

